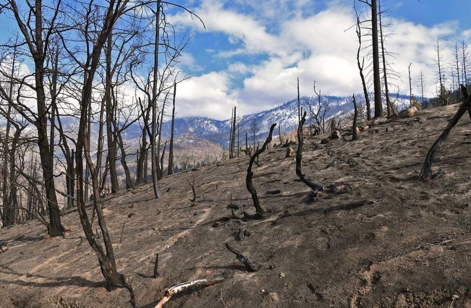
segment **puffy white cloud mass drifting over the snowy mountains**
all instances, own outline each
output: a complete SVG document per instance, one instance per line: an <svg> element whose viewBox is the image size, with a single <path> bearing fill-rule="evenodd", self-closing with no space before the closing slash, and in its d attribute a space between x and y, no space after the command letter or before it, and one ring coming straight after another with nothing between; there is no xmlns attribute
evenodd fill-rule
<svg viewBox="0 0 471 308"><path fill-rule="evenodd" d="M251 1L235 1L245 2ZM353 8L344 1L332 1L316 11L313 5L309 6L310 2L267 0L261 7L245 3L251 9L240 11L221 1L203 0L194 11L205 21L207 30L187 14L170 16L171 22L179 27L227 36L234 48L211 52L211 56L226 57L228 62L234 56L237 59L251 54L266 56L253 65L239 60L224 71L184 81L181 88L186 92L179 91L178 96L180 115L225 119L232 105L237 105L241 114L274 107L296 95L296 77L300 78L302 95L313 94L313 80L325 95L361 93L356 63L358 42L354 28L349 29L356 21ZM277 5L284 9L274 11ZM408 93L407 68L412 62L413 92L418 93L416 83L422 69L427 77L425 93L432 95L437 37L442 39L445 62L450 63L454 41L466 39L471 32L459 33L456 22L427 27L402 19L388 21L392 23L389 31L394 35L388 40L387 49L395 54L389 62L402 77L396 81L401 93ZM236 78L242 81L236 83Z"/></svg>

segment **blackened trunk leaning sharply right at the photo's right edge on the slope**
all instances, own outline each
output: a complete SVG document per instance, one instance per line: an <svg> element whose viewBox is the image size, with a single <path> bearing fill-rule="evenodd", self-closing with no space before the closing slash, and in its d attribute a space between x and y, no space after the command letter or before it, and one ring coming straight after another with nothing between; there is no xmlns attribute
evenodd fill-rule
<svg viewBox="0 0 471 308"><path fill-rule="evenodd" d="M432 171L432 162L433 162L433 159L435 158L435 155L438 153L438 151L440 150L440 147L445 142L451 129L458 123L458 121L465 114L465 112L468 111L471 107L471 96L468 95L468 91L466 90L466 87L463 84L460 84L460 86L461 86L461 91L463 91L463 97L466 99L466 101L461 104L458 111L456 111L456 114L453 116L450 122L448 122L448 125L446 126L445 130L442 132L440 137L438 137L438 140L435 141L435 143L432 145L432 147L428 151L428 154L425 157L425 160L422 165L422 170L420 170L420 175L419 175L420 180L429 180L430 172Z"/></svg>

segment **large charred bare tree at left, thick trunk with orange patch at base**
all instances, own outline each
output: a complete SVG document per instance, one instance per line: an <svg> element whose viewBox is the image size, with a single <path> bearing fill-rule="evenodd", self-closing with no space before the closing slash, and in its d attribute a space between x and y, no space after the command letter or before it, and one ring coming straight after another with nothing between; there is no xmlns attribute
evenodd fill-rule
<svg viewBox="0 0 471 308"><path fill-rule="evenodd" d="M2 10L11 13L23 36L23 41L19 41L17 46L26 46L27 53L34 63L34 85L29 84L25 79L19 80L25 86L35 92L36 111L27 107L19 101L13 101L3 86L0 85L0 95L6 100L26 121L35 126L37 132L37 146L45 182L47 205L49 208L49 230L51 236L59 236L65 231L60 221L60 211L55 193L54 166L51 157L50 136L48 133L49 104L46 98L45 88L45 61L49 52L52 33L56 29L56 21L61 11L60 2L56 6L47 6L42 0L36 0L34 5L28 6L27 12L23 12L18 7L15 0L10 0L1 5ZM44 9L44 11L43 11ZM44 23L47 21L47 26ZM20 86L21 88L21 86ZM17 100L19 99L18 96Z"/></svg>

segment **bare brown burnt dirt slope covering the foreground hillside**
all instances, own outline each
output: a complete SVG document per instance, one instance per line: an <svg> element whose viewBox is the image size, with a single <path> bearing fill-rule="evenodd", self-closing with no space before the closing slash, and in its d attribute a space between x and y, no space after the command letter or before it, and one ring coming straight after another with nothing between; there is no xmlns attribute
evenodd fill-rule
<svg viewBox="0 0 471 308"><path fill-rule="evenodd" d="M459 296L455 308L471 307L469 118L438 155L434 166L444 176L418 180L424 155L457 107L370 128L357 142L307 140L304 172L326 188L317 200L296 180L294 158L268 150L254 170L264 220L221 220L231 215L231 194L254 212L246 157L165 178L158 201L150 185L108 198L117 265L131 277L138 305L154 307L176 283L227 273L227 281L168 307L450 307L451 295ZM186 179L194 177L200 200L192 207ZM265 193L273 189L282 193ZM374 203L324 213L360 200ZM0 254L0 307L130 307L126 290L105 290L78 213L63 223L73 227L65 238L44 238L35 221L0 231L0 240L26 234ZM251 235L235 241L240 227ZM226 241L263 268L247 272ZM156 252L161 276L152 279Z"/></svg>

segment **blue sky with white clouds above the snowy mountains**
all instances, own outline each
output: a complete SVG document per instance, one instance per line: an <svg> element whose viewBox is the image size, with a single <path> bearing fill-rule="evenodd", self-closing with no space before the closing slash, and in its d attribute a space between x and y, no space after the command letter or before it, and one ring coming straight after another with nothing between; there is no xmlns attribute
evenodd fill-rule
<svg viewBox="0 0 471 308"><path fill-rule="evenodd" d="M21 2L21 0L20 0ZM296 95L312 95L312 83L325 95L361 93L356 64L358 42L354 29L353 0L185 0L178 1L197 13L206 29L181 10L167 10L179 35L193 35L181 58L180 69L196 77L178 90L180 116L228 118L238 106L241 114L257 112L288 101ZM383 0L392 23L389 58L400 78L395 91L408 93L407 67L412 62L413 92L419 71L426 76L426 92L435 89L433 58L437 36L451 63L455 41L471 41L471 1ZM367 8L357 2L365 13ZM364 14L364 17L365 14ZM14 29L0 15L4 41ZM471 43L470 43L471 44ZM365 51L366 55L366 51ZM448 66L446 70L449 70ZM230 112L230 111L229 111Z"/></svg>

